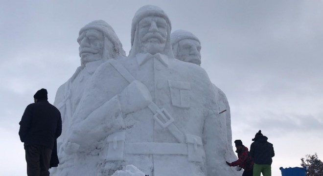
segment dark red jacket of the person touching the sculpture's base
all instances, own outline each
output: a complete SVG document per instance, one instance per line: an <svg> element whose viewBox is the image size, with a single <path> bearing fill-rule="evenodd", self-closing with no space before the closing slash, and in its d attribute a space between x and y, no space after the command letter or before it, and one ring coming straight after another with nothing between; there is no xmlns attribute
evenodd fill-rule
<svg viewBox="0 0 323 176"><path fill-rule="evenodd" d="M254 168L254 161L247 147L243 146L241 150L235 152L238 154L238 160L231 162L230 166L240 166L245 171L250 171Z"/></svg>

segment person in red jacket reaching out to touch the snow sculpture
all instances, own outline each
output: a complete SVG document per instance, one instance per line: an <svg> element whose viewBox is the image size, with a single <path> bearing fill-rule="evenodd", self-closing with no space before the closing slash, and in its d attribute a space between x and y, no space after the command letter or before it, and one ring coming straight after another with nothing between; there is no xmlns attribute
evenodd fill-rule
<svg viewBox="0 0 323 176"><path fill-rule="evenodd" d="M226 161L227 164L229 166L239 166L244 169L242 176L253 176L254 161L249 154L248 148L245 147L239 139L235 140L234 143L237 149L235 152L238 154L238 160L231 163Z"/></svg>

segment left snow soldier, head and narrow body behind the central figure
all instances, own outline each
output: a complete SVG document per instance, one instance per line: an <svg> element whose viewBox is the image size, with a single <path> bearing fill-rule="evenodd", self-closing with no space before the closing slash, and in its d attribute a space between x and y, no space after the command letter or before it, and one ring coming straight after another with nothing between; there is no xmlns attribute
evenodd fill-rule
<svg viewBox="0 0 323 176"><path fill-rule="evenodd" d="M72 114L76 110L88 80L98 66L112 59L125 57L122 44L114 29L105 21L97 20L82 27L77 38L81 66L69 80L60 86L56 92L54 106L56 106L63 120L63 132L58 138L58 155L61 163L64 162L60 145L68 133Z"/></svg>

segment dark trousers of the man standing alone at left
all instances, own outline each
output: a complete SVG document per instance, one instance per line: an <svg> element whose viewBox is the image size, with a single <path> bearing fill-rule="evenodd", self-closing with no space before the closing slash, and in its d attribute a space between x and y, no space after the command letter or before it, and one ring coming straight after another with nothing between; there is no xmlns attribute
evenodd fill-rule
<svg viewBox="0 0 323 176"><path fill-rule="evenodd" d="M24 145L27 176L49 176L51 149L45 146Z"/></svg>

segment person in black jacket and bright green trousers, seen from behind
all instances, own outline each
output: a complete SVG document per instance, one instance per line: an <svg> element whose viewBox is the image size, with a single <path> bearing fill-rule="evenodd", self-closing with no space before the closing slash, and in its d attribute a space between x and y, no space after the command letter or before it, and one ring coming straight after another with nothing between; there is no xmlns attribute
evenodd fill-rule
<svg viewBox="0 0 323 176"><path fill-rule="evenodd" d="M271 176L272 157L275 156L273 144L267 141L268 137L262 135L261 130L254 136L250 147L250 154L254 159L254 176Z"/></svg>

